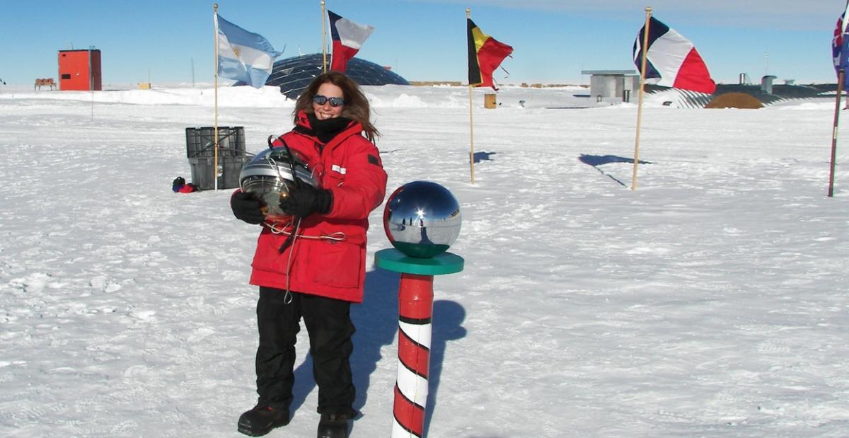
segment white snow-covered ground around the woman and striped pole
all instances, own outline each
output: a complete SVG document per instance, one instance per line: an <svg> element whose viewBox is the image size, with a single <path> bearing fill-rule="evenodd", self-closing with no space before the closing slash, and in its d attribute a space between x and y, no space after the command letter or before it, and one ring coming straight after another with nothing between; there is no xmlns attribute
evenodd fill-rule
<svg viewBox="0 0 849 438"><path fill-rule="evenodd" d="M849 435L849 171L834 103L583 110L585 89L366 87L387 195L441 183L462 205L435 281L431 437ZM273 87L219 90L248 150L291 127ZM188 126L214 91L0 89L0 435L241 436L253 406L259 228L190 179ZM524 103L520 104L520 100ZM592 106L592 105L591 105ZM841 129L841 139L849 132ZM369 265L390 247L382 206ZM398 275L353 307L352 437L388 436ZM317 391L301 331L294 418Z"/></svg>

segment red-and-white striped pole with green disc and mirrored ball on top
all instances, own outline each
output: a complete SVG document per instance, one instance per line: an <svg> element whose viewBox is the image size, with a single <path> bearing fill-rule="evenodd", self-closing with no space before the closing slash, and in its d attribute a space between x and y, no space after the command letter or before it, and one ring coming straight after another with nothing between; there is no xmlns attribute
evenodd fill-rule
<svg viewBox="0 0 849 438"><path fill-rule="evenodd" d="M457 239L460 222L457 199L436 183L404 184L386 201L383 224L395 248L377 251L374 261L377 267L401 273L392 438L424 436L433 277L463 271L463 257L445 252Z"/></svg>

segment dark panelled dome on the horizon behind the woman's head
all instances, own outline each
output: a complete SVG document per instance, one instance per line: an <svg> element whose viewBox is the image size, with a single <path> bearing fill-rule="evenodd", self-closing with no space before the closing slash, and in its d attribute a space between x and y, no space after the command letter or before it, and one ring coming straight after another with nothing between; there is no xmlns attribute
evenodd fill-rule
<svg viewBox="0 0 849 438"><path fill-rule="evenodd" d="M280 93L283 93L287 98L296 99L310 85L314 77L321 75L322 59L321 53L280 59L274 63L266 85L280 87ZM329 68L329 54L327 55L327 65ZM359 85L410 85L406 79L397 75L389 67L377 65L365 59L353 58L348 61L345 74ZM236 82L233 85L245 85L245 82Z"/></svg>

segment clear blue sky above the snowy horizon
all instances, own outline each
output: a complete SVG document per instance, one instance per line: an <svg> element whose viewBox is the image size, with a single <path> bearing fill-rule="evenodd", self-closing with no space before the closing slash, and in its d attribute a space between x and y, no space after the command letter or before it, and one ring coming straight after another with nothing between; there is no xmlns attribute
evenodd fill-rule
<svg viewBox="0 0 849 438"><path fill-rule="evenodd" d="M58 76L57 52L94 46L104 88L213 77L212 4L194 0L0 0L0 79L31 85ZM321 51L318 0L221 0L219 13L266 36L284 54ZM765 74L834 82L830 42L843 0L655 0L654 16L694 42L717 82ZM629 70L646 3L633 0L328 0L327 8L374 34L358 57L410 81L465 81L465 8L487 34L514 48L502 83L588 83L581 70ZM329 36L328 36L329 39ZM193 76L194 64L194 76Z"/></svg>

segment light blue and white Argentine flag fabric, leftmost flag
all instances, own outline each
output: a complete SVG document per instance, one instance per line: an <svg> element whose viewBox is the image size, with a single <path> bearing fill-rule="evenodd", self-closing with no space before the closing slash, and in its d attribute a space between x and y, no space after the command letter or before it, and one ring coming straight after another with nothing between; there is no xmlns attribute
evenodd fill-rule
<svg viewBox="0 0 849 438"><path fill-rule="evenodd" d="M265 37L245 31L216 14L218 29L218 76L243 81L251 87L265 86L280 52Z"/></svg>

